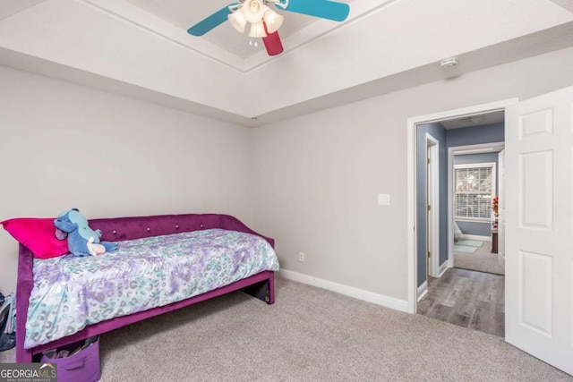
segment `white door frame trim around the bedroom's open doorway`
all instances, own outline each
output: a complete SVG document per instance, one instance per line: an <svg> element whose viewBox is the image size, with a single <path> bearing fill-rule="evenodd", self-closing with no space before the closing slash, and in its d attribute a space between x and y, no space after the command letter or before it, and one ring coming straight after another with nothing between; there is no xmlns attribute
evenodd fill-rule
<svg viewBox="0 0 573 382"><path fill-rule="evenodd" d="M415 160L416 160L416 127L422 123L432 123L448 119L459 118L471 115L483 115L500 110L505 110L509 105L516 104L518 98L509 98L496 102L491 102L476 106L467 106L458 109L452 109L445 112L434 113L431 115L418 115L407 119L407 311L415 314L417 303L417 259L416 259L416 234L415 234L415 216L416 216L416 183L415 183ZM450 209L450 208L449 208ZM452 211L449 210L448 214L451 215ZM449 227L448 238L452 234L452 229ZM449 239L448 239L449 241ZM450 244L449 244L450 245ZM453 244L451 244L453 245Z"/></svg>

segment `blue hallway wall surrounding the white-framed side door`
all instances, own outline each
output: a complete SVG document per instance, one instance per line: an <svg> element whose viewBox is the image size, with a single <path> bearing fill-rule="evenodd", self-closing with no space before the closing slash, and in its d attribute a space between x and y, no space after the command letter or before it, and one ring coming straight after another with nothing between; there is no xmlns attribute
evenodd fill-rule
<svg viewBox="0 0 573 382"><path fill-rule="evenodd" d="M446 130L440 123L418 125L416 132L416 239L418 286L426 280L426 132L438 140L440 167L440 265L448 259L448 147Z"/></svg>

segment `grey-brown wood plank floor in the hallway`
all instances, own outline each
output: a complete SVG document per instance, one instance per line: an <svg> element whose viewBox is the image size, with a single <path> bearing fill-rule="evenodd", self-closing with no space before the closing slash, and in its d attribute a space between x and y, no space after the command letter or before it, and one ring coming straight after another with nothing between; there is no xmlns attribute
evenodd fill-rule
<svg viewBox="0 0 573 382"><path fill-rule="evenodd" d="M504 276L449 268L440 278L429 277L418 313L504 337L504 291Z"/></svg>

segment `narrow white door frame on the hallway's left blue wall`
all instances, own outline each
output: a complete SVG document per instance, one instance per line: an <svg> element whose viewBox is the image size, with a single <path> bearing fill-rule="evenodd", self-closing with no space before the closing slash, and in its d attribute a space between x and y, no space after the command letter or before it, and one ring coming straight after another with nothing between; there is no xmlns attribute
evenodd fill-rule
<svg viewBox="0 0 573 382"><path fill-rule="evenodd" d="M426 275L438 277L440 276L440 142L429 132L426 132L426 150L431 153L427 158L432 158L426 165L426 169L430 170L430 174L426 171L426 204L432 206L431 219L426 212L426 250L432 253ZM427 245L428 238L431 246Z"/></svg>

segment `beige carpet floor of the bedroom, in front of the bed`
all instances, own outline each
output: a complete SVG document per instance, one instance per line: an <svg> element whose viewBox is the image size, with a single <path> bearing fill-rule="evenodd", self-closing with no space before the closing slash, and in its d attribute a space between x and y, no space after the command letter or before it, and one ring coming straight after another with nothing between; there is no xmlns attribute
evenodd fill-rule
<svg viewBox="0 0 573 382"><path fill-rule="evenodd" d="M13 361L13 351L0 353ZM278 279L101 336L103 381L571 381L502 338Z"/></svg>

